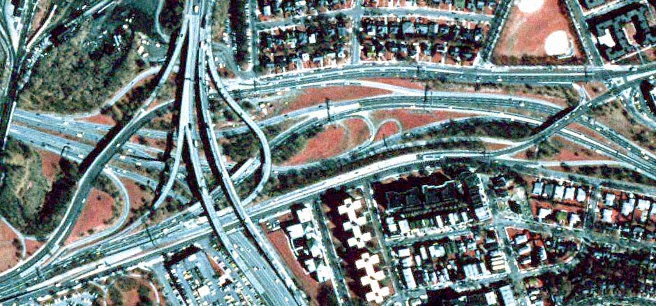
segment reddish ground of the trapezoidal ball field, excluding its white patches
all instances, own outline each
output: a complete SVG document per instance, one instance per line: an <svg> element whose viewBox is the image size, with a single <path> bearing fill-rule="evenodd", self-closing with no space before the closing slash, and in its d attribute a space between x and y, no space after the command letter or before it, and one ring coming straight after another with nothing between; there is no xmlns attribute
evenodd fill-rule
<svg viewBox="0 0 656 306"><path fill-rule="evenodd" d="M516 6L512 8L495 54L518 58L546 57L544 41L554 31L566 31L570 41L576 40L576 32L569 27L569 16L560 10L558 1L544 0L542 8L530 14L523 13ZM581 57L581 50L575 47L574 56Z"/></svg>

